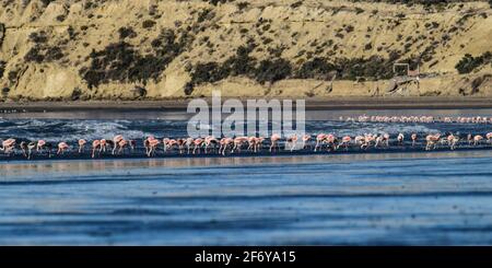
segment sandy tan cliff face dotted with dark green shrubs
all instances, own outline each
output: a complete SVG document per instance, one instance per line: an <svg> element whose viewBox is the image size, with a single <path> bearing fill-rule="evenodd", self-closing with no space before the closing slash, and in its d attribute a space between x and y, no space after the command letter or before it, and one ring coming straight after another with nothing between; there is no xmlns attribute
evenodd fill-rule
<svg viewBox="0 0 492 268"><path fill-rule="evenodd" d="M492 96L488 2L214 2L2 0L2 97Z"/></svg>

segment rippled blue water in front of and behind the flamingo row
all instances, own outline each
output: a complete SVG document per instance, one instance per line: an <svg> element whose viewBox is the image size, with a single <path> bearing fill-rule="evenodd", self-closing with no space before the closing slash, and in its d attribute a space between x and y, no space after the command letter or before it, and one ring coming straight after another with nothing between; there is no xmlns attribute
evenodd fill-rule
<svg viewBox="0 0 492 268"><path fill-rule="evenodd" d="M0 137L180 135L183 126L3 118ZM320 118L306 126L489 128ZM0 162L0 200L3 245L481 245L492 243L492 151Z"/></svg>

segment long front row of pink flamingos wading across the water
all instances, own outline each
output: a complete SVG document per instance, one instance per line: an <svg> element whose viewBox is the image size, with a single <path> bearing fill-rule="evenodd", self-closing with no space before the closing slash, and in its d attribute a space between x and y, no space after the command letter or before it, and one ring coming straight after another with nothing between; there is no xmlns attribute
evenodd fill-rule
<svg viewBox="0 0 492 268"><path fill-rule="evenodd" d="M415 148L418 142L425 144L425 150L434 150L436 147L449 147L450 150L455 150L460 142L468 143L469 147L477 147L483 142L492 142L492 132L484 136L481 135L467 135L460 137L453 133L430 133L419 136L413 132L409 138L409 145ZM200 154L200 153L215 153L220 155L241 153L244 150L250 153L258 153L261 150L267 150L270 153L280 151L280 144L283 143L284 150L292 152L294 150L312 150L314 152L320 151L337 151L349 149L367 150L370 148L389 148L390 142L397 147L403 148L406 145L406 135L399 133L391 140L388 133L372 135L366 133L363 136L343 136L337 137L332 133L318 133L316 136L311 135L292 135L285 139L282 139L280 135L272 135L269 138L265 137L235 137L235 138L221 138L216 139L212 136L204 138L183 138L171 139L162 138L156 139L154 136L149 136L141 142L147 156L155 156L157 151L162 153L176 152L179 154ZM137 148L137 140L125 139L122 135L117 135L113 139L97 139L93 140L90 144L84 139L80 139L77 144L72 147L68 142L51 143L45 140L27 141L22 140L17 143L17 140L10 138L1 142L0 151L11 156L16 152L22 153L26 159L32 159L35 154L47 154L51 158L52 154L65 155L72 150L79 155L90 154L91 158L101 158L103 155L121 155L125 153L133 153ZM422 145L423 148L423 145Z"/></svg>

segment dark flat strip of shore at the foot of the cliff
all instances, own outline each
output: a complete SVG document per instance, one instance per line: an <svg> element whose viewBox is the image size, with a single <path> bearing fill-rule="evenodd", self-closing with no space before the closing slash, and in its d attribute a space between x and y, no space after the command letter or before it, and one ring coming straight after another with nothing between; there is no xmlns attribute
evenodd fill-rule
<svg viewBox="0 0 492 268"><path fill-rule="evenodd" d="M251 97L254 98L254 97ZM258 97L261 100L265 97ZM161 110L186 112L194 98L162 101L87 101L87 102L1 102L0 113L74 112L74 110ZM210 98L204 98L210 103ZM222 97L222 103L226 97ZM238 98L246 107L246 100ZM269 100L269 98L266 98ZM286 98L285 98L286 100ZM295 101L296 98L293 98ZM492 108L489 97L347 97L347 98L300 98L305 100L307 110L337 109L453 109ZM294 105L295 106L295 105Z"/></svg>

